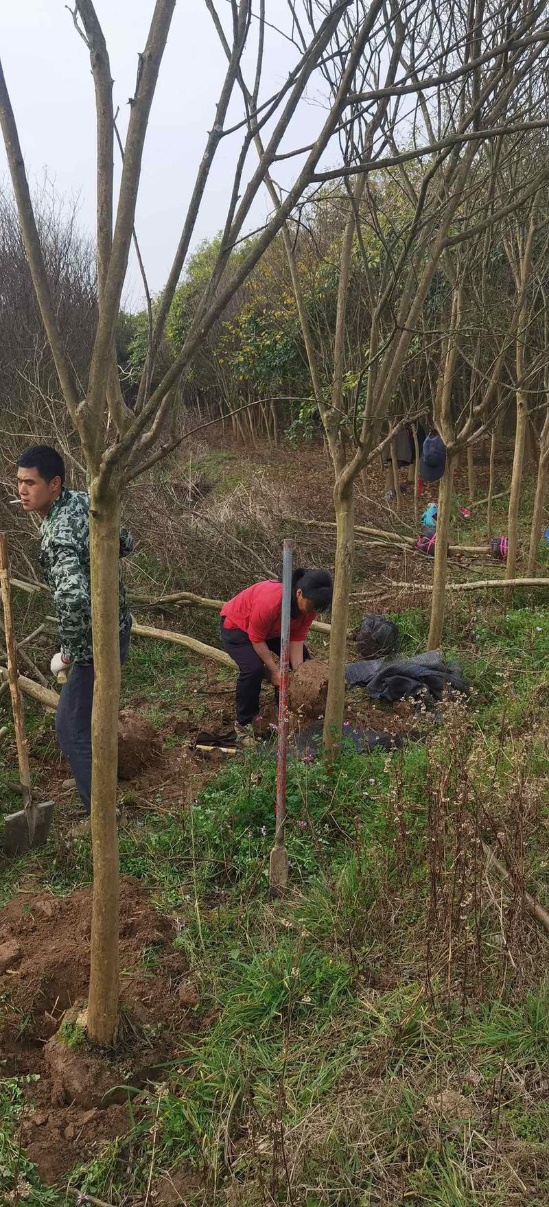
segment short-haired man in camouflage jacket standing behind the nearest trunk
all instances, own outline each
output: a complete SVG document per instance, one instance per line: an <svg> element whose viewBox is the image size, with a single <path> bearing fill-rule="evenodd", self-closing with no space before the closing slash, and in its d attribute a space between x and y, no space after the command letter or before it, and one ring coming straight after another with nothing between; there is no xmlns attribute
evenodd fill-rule
<svg viewBox="0 0 549 1207"><path fill-rule="evenodd" d="M65 466L56 449L35 444L17 462L19 498L25 512L37 512L40 565L49 587L59 625L60 651L52 658L54 675L70 670L56 715L59 746L68 759L86 814L92 800L93 646L89 585L89 496L64 485ZM134 547L121 529L119 555ZM129 649L132 617L119 581L121 661Z"/></svg>

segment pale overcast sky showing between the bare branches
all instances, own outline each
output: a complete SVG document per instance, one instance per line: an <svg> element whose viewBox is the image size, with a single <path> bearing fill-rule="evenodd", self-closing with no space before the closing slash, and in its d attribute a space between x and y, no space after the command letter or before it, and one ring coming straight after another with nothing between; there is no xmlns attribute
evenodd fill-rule
<svg viewBox="0 0 549 1207"><path fill-rule="evenodd" d="M115 107L125 130L128 98L133 95L138 52L146 42L153 0L95 0L106 36L115 80ZM267 0L267 18L287 23L285 0ZM224 0L220 11L228 12ZM31 185L46 171L59 193L80 196L80 221L94 231L95 116L89 57L78 37L65 0L1 0L1 58L19 129ZM280 86L294 62L294 49L280 34L269 33L264 95ZM179 0L152 107L144 157L136 228L150 287L158 291L167 278L181 233L197 165L214 106L220 95L226 62L204 0ZM308 141L322 121L320 93L314 89L292 127L292 146ZM233 109L233 115L236 112ZM239 107L240 112L240 107ZM223 142L204 198L193 245L222 226L227 194L238 151L236 139ZM253 165L255 152L250 163ZM278 171L290 182L298 161ZM0 175L6 177L4 146ZM262 191L251 227L268 212ZM125 302L142 303L139 270L132 260Z"/></svg>

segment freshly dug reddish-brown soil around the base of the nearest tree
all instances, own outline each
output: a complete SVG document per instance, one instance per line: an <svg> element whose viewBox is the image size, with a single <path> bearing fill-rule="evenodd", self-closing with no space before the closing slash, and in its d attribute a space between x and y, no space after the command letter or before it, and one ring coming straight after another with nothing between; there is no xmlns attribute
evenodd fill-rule
<svg viewBox="0 0 549 1207"><path fill-rule="evenodd" d="M179 996L187 962L174 950L175 928L152 909L138 880L123 877L119 1049L110 1061L92 1045L72 1049L56 1036L65 1011L71 1019L70 1008L87 996L90 917L90 888L60 898L19 893L0 909L0 947L11 952L0 975L0 1050L7 1075L39 1074L27 1091L22 1136L48 1183L106 1139L125 1135L128 1107L105 1091L128 1075L138 1088L153 1078L154 1067L176 1056L185 1033L197 1027L185 993ZM146 967L152 961L154 967Z"/></svg>

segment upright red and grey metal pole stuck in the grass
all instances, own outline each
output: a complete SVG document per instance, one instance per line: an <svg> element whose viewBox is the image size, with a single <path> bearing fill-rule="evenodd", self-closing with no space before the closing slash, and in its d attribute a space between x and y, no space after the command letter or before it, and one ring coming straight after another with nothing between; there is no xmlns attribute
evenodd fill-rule
<svg viewBox="0 0 549 1207"><path fill-rule="evenodd" d="M279 737L276 745L275 841L269 859L269 896L280 897L288 882L288 856L284 845L286 828L286 762L288 750L290 611L292 607L293 541L284 542L282 618L280 625Z"/></svg>

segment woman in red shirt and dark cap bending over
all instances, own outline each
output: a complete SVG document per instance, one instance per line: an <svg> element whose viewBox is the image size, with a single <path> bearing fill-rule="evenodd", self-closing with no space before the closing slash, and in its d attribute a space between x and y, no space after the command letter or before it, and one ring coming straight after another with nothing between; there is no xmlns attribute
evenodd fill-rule
<svg viewBox="0 0 549 1207"><path fill-rule="evenodd" d="M290 619L290 664L292 670L309 658L304 645L313 620L332 604L333 582L327 570L298 567L292 575ZM221 608L221 640L240 674L236 683L236 736L250 737L250 725L259 709L263 678L275 688L280 671L274 654L280 654L282 583L268 579L246 587Z"/></svg>

